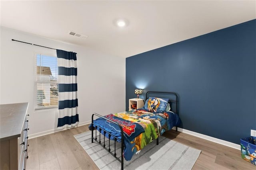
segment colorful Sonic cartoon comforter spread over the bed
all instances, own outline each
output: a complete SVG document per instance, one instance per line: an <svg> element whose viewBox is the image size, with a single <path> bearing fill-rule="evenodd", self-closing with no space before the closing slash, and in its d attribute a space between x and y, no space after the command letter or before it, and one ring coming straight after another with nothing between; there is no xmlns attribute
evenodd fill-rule
<svg viewBox="0 0 256 170"><path fill-rule="evenodd" d="M154 139L157 139L165 131L172 129L172 127L180 123L178 115L172 111L151 113L143 109L137 109L135 111L114 113L104 117L122 126L124 131L123 155L125 160L130 160L134 153L139 153L142 148ZM118 125L103 118L98 118L93 122L121 141L121 131ZM89 126L89 129L92 130L92 124ZM110 139L113 139L113 137L110 137Z"/></svg>

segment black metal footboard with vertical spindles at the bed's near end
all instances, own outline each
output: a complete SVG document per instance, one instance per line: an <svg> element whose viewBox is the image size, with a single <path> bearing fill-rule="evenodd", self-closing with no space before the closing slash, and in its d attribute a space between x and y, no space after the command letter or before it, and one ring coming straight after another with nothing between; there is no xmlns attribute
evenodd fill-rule
<svg viewBox="0 0 256 170"><path fill-rule="evenodd" d="M97 117L101 117L102 119L106 119L107 121L110 121L112 123L115 123L116 125L119 126L120 128L120 131L121 131L121 140L118 139L117 137L115 137L114 135L111 135L110 133L108 133L107 131L105 131L104 129L102 129L101 127L98 127L97 125L95 125L93 123L94 121L94 115L97 116ZM118 123L110 120L110 119L107 119L106 117L103 117L97 113L93 113L92 114L92 126L94 127L95 126L95 129L92 127L92 143L94 141L96 141L99 145L101 145L104 149L106 149L110 154L112 154L112 156L114 156L119 162L121 162L121 170L124 169L124 156L123 156L123 152L124 152L124 132L123 132L123 129L122 129L122 126L120 126ZM95 137L94 137L94 130L95 130ZM100 135L99 135L99 139L97 139L97 130L99 131L99 133L103 132L103 135L104 135L104 139L100 139ZM105 144L105 137L108 137L108 148L106 148L106 144ZM114 138L114 150L112 151L111 148L110 148L110 137L113 137ZM103 142L102 142L103 140ZM120 158L116 157L116 142L119 141L121 143L121 160Z"/></svg>

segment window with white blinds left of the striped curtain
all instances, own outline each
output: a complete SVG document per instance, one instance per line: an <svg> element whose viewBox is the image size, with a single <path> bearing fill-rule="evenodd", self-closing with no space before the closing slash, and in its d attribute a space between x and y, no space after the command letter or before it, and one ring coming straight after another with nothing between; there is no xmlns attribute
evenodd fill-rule
<svg viewBox="0 0 256 170"><path fill-rule="evenodd" d="M35 109L58 106L57 57L36 54Z"/></svg>

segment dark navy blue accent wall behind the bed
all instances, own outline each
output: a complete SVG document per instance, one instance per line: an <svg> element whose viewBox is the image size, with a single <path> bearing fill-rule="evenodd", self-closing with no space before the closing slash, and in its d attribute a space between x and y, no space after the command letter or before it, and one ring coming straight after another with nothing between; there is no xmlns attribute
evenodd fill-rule
<svg viewBox="0 0 256 170"><path fill-rule="evenodd" d="M256 129L256 20L126 58L135 88L179 95L179 127L239 144Z"/></svg>

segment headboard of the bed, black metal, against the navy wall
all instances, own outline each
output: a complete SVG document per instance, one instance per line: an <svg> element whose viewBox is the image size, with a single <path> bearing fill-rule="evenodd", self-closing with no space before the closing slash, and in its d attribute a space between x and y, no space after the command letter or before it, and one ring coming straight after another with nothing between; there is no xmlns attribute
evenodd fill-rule
<svg viewBox="0 0 256 170"><path fill-rule="evenodd" d="M174 113L179 114L179 109L178 109L178 95L174 92L154 92L154 91L148 91L146 93L146 100L149 97L157 97L157 98L168 98L169 101L168 103L170 104L171 111ZM145 102L146 102L145 100ZM175 106L175 109L173 109L173 105Z"/></svg>

